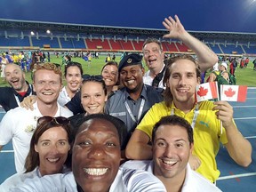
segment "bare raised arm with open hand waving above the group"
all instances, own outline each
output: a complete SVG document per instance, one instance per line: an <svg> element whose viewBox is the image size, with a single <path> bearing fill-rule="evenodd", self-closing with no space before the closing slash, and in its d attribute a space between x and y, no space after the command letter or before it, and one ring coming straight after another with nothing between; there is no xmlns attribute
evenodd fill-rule
<svg viewBox="0 0 256 192"><path fill-rule="evenodd" d="M177 15L174 18L175 20L172 17L164 19L163 25L169 31L169 34L164 35L164 37L180 39L189 49L195 52L202 71L212 68L218 62L217 55L206 44L188 34Z"/></svg>

